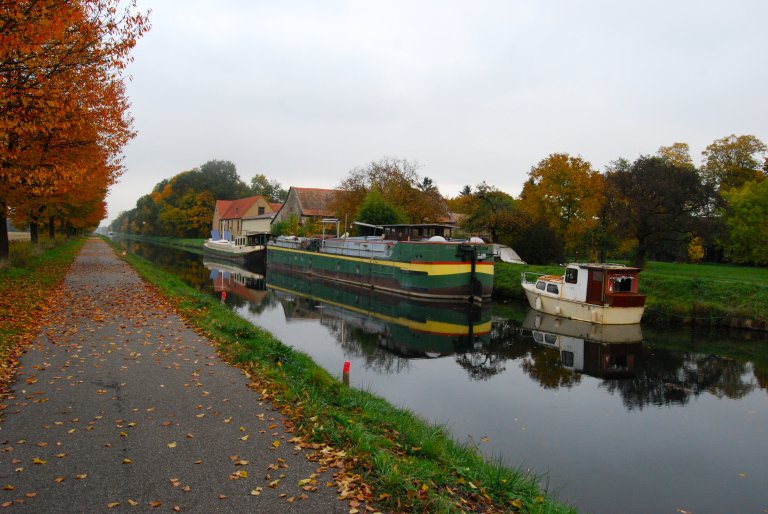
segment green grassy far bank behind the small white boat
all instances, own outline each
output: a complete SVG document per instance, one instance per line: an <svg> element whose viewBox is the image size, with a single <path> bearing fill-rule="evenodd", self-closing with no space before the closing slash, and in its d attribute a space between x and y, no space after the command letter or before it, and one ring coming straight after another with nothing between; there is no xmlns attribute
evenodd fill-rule
<svg viewBox="0 0 768 514"><path fill-rule="evenodd" d="M520 273L562 274L559 266L496 263L494 299L525 301ZM695 324L768 331L768 269L649 262L643 324Z"/></svg>

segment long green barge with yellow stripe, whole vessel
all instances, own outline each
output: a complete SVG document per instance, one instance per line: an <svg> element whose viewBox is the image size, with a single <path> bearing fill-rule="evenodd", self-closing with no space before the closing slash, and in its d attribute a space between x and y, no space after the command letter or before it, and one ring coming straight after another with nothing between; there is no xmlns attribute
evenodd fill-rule
<svg viewBox="0 0 768 514"><path fill-rule="evenodd" d="M488 300L493 245L450 239L448 225L383 225L360 237L281 236L267 245L267 269L323 277L389 293L439 300ZM446 237L448 236L448 237Z"/></svg>

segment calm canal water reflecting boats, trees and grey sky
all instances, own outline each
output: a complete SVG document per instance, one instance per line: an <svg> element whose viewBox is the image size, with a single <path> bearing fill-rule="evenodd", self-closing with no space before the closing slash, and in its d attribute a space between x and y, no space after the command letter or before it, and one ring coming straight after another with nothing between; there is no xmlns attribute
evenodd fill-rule
<svg viewBox="0 0 768 514"><path fill-rule="evenodd" d="M583 512L768 509L768 336L435 308L126 245ZM267 286L265 289L265 285Z"/></svg>

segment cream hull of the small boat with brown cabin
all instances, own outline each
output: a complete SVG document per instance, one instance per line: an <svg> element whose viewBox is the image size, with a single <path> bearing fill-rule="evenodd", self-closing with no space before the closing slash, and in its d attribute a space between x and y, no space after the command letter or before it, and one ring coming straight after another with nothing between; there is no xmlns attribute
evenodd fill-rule
<svg viewBox="0 0 768 514"><path fill-rule="evenodd" d="M563 318L604 325L632 325L640 323L645 310L644 306L615 307L578 302L541 294L531 283L522 286L532 309Z"/></svg>

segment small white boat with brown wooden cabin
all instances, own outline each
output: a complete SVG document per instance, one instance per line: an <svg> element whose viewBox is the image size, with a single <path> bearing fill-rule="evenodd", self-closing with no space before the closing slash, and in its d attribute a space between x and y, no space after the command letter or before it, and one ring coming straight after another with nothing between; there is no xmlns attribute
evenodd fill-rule
<svg viewBox="0 0 768 514"><path fill-rule="evenodd" d="M623 264L571 263L565 273L522 273L531 308L563 318L604 325L640 323L645 295L638 292L640 268Z"/></svg>

